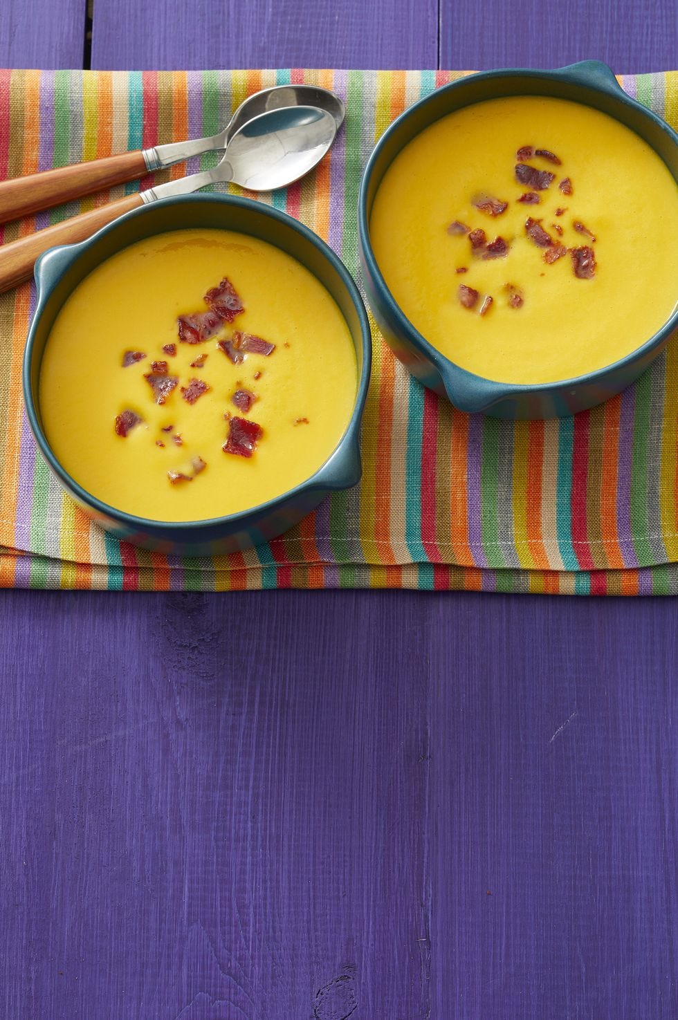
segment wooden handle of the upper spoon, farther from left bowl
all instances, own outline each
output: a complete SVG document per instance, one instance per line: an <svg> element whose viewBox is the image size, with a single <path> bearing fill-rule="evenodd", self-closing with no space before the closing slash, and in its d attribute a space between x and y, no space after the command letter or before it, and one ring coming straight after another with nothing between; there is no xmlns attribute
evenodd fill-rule
<svg viewBox="0 0 678 1020"><path fill-rule="evenodd" d="M147 172L143 153L139 149L3 181L0 183L0 223L91 195L124 181L136 181Z"/></svg>

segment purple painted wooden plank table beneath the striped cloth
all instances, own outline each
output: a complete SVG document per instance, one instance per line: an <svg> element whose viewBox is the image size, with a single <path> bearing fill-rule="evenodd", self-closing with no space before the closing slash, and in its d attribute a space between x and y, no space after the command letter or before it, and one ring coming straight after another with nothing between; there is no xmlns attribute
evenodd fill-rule
<svg viewBox="0 0 678 1020"><path fill-rule="evenodd" d="M96 0L91 56L31 11L0 63L676 55L671 0ZM0 598L1 1017L678 1015L675 601Z"/></svg>

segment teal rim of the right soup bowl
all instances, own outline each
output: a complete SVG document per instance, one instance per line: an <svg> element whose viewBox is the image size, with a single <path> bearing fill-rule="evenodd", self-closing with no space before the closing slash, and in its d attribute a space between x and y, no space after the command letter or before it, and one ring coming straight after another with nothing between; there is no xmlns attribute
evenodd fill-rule
<svg viewBox="0 0 678 1020"><path fill-rule="evenodd" d="M530 79L543 79L545 81L561 81L561 82L572 82L576 85L582 86L591 92L597 92L602 95L612 97L614 100L618 101L622 105L630 106L632 109L639 111L642 115L646 116L649 120L653 121L659 128L661 128L673 141L674 145L678 146L678 133L674 131L668 121L664 120L662 117L658 116L652 110L649 110L642 103L633 99L628 95L627 92L622 89L617 81L617 78L612 70L612 68L600 60L581 60L577 63L567 64L563 67L555 67L552 69L541 69L534 67L505 67L494 70L486 71L475 71L470 74L466 74L464 78L457 79L454 82L449 82L447 85L440 86L433 92L430 92L427 96L419 99L407 109L403 110L396 119L389 124L384 134L381 136L377 144L375 145L370 158L366 164L365 170L362 171L362 177L360 180L360 189L358 193L358 241L360 247L360 255L365 259L368 270L372 278L377 285L377 289L380 290L386 298L389 305L390 314L395 317L397 326L400 330L404 332L408 340L413 343L413 346L424 354L429 361L431 361L445 386L445 391L447 392L448 399L454 403L453 396L449 393L452 390L452 385L446 385L447 380L452 377L456 377L461 382L466 384L467 387L473 388L476 395L483 396L483 404L481 407L471 409L473 411L486 412L491 409L491 407L502 400L511 400L517 397L544 394L544 393L555 393L562 390L571 390L582 385L595 384L598 380L608 376L611 372L616 369L624 367L626 364L635 362L638 358L642 357L644 354L649 353L652 348L659 346L666 338L669 336L674 328L678 327L678 302L676 303L673 312L669 318L657 329L651 337L644 341L639 347L634 348L628 354L625 354L622 358L617 361L610 362L607 365L602 365L600 368L594 368L590 372L586 372L583 375L574 375L569 378L564 379L553 379L550 382L505 382L499 379L492 379L489 376L478 375L475 372L469 371L467 368L462 367L455 361L446 357L438 348L434 347L430 341L428 341L423 334L417 329L413 322L407 318L399 304L393 297L391 291L386 284L386 280L382 274L379 264L375 257L372 242L370 239L370 221L368 216L368 189L374 173L375 166L384 146L390 141L390 139L398 131L401 130L402 125L413 116L416 116L419 110L430 103L434 97L444 95L446 93L455 93L468 88L469 84L483 80L496 80L503 81L507 79L517 78L530 78ZM512 93L511 95L521 95L522 93ZM533 95L533 93L530 93ZM505 93L501 94L505 95ZM501 98L499 95L495 98ZM489 99L484 100L471 100L469 103L465 103L464 106L473 106L476 103L488 102ZM570 102L577 102L577 100L570 100ZM582 104L585 105L585 104ZM454 112L455 109L462 109L464 107L455 107L453 110L448 110L447 113ZM441 113L440 117L436 120L441 119L446 116L446 113ZM608 114L611 116L612 114ZM423 128L421 132L426 131L431 124L435 123L436 120L432 120L430 124ZM623 121L620 121L623 122ZM626 125L625 125L626 126ZM632 131L633 129L629 129ZM408 145L410 141L417 138L421 132L417 132L404 143ZM649 144L649 143L646 143ZM401 151L403 146L400 147ZM651 146L650 146L651 148ZM652 150L655 151L655 150ZM394 157L395 158L395 157ZM661 158L661 157L660 157ZM391 160L392 162L392 160ZM389 163L389 166L391 164ZM378 186L379 187L379 186ZM459 405L455 405L459 406ZM464 409L464 408L462 408Z"/></svg>

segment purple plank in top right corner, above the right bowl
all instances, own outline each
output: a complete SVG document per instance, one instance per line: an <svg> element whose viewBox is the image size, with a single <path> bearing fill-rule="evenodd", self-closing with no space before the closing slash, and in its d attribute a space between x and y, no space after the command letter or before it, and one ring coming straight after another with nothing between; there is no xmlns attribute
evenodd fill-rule
<svg viewBox="0 0 678 1020"><path fill-rule="evenodd" d="M562 67L591 59L604 60L618 74L674 70L673 0L440 0L441 67Z"/></svg>

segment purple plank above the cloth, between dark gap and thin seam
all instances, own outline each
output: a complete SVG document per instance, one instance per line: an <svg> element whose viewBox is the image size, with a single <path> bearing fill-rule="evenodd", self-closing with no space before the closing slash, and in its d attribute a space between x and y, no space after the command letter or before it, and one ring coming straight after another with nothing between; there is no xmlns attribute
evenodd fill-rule
<svg viewBox="0 0 678 1020"><path fill-rule="evenodd" d="M433 67L437 0L105 0L92 67Z"/></svg>

